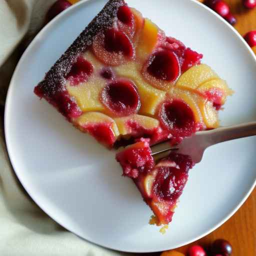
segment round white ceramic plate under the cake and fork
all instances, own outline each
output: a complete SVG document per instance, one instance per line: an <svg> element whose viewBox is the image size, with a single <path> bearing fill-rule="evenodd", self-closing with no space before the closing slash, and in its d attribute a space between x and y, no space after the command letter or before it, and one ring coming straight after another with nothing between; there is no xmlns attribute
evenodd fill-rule
<svg viewBox="0 0 256 256"><path fill-rule="evenodd" d="M217 228L244 202L256 179L256 137L209 148L190 172L165 235L148 225L151 211L135 185L121 176L114 152L76 130L33 87L103 7L87 0L40 31L13 74L5 108L5 135L14 170L34 201L75 234L122 251L181 246ZM238 33L195 0L128 0L144 16L204 53L235 90L221 124L256 119L256 61Z"/></svg>

